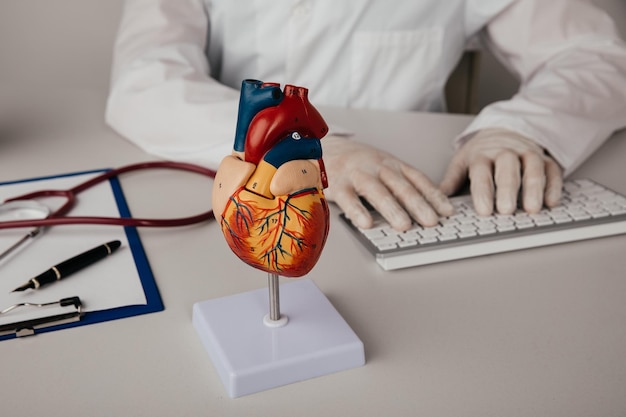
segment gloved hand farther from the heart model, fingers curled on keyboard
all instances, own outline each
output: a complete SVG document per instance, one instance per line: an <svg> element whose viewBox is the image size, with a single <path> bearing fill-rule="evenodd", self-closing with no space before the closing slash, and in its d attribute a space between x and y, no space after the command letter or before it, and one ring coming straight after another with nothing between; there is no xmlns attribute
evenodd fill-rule
<svg viewBox="0 0 626 417"><path fill-rule="evenodd" d="M452 158L441 181L446 195L458 191L466 179L474 210L480 215L511 214L522 190L522 207L536 213L561 199L563 173L559 164L530 139L505 129L486 129L469 139ZM495 189L495 198L494 198Z"/></svg>

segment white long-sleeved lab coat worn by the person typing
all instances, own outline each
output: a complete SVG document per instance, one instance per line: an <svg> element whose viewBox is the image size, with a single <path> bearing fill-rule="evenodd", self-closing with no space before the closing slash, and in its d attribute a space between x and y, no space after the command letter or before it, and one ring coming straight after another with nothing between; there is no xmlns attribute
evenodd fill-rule
<svg viewBox="0 0 626 417"><path fill-rule="evenodd" d="M305 86L316 106L442 111L477 34L521 88L457 145L505 128L571 172L626 126L626 46L587 0L127 0L106 120L154 155L216 168L243 79Z"/></svg>

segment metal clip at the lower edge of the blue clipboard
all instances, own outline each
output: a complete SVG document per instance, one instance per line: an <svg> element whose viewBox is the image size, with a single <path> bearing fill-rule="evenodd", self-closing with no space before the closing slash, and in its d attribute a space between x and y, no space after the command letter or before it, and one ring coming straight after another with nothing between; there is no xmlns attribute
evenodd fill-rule
<svg viewBox="0 0 626 417"><path fill-rule="evenodd" d="M50 306L60 306L60 307L68 307L72 308L72 311L55 314L52 316L46 317L38 317L35 319L22 320L15 323L7 323L0 325L0 336L4 336L7 334L15 334L16 337L24 337L24 336L32 336L35 334L35 329L42 329L51 326L57 326L60 324L73 323L75 321L79 321L81 316L83 315L82 303L80 301L80 297L68 297L62 298L59 301L52 301L50 303L19 303L13 304L10 307L5 308L0 311L0 315L6 314L12 310L15 310L20 307L35 307L35 308L45 308Z"/></svg>

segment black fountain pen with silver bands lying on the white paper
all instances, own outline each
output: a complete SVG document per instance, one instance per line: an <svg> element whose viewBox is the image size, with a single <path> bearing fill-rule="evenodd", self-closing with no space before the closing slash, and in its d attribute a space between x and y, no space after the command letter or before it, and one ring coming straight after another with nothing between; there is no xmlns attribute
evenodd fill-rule
<svg viewBox="0 0 626 417"><path fill-rule="evenodd" d="M26 284L17 287L12 292L24 291L29 288L36 290L51 282L62 280L68 275L80 271L81 269L98 262L100 259L106 258L115 252L120 246L121 242L119 240L114 240L90 249L87 252L83 252L80 255L76 255L67 261L63 261L60 264L53 266L46 272L37 275L35 278L31 278Z"/></svg>

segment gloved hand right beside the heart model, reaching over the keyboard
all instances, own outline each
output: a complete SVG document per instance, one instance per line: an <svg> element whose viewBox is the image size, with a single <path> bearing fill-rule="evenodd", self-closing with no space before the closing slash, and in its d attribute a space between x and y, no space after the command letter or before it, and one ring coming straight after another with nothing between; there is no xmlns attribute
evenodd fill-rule
<svg viewBox="0 0 626 417"><path fill-rule="evenodd" d="M454 212L426 175L387 152L338 136L324 138L322 147L328 174L325 194L358 227L367 229L373 223L359 196L400 231L411 227L411 218L434 226L440 216Z"/></svg>

